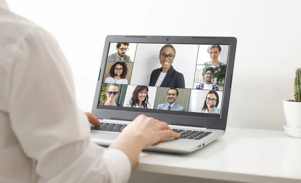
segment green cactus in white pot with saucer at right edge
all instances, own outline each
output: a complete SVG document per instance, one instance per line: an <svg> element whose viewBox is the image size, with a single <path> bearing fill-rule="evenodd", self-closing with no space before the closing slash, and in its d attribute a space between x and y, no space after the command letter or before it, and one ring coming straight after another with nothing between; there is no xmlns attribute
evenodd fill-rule
<svg viewBox="0 0 301 183"><path fill-rule="evenodd" d="M301 68L296 69L294 79L294 99L283 100L286 121L284 130L287 135L301 137Z"/></svg>

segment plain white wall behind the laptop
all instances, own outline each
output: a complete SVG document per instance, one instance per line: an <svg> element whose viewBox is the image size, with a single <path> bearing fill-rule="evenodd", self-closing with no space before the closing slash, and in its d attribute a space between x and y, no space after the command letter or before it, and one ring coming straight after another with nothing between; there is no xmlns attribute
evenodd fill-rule
<svg viewBox="0 0 301 183"><path fill-rule="evenodd" d="M235 36L228 125L283 130L282 99L301 67L299 0L8 0L46 27L73 70L90 111L107 34ZM118 13L119 12L119 13Z"/></svg>

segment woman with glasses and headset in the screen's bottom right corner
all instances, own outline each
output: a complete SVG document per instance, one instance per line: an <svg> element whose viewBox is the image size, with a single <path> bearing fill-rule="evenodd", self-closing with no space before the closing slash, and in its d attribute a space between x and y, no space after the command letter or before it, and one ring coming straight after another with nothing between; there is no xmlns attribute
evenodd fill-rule
<svg viewBox="0 0 301 183"><path fill-rule="evenodd" d="M221 109L217 108L219 103L218 93L216 91L209 91L204 101L203 108L200 112L202 113L221 113Z"/></svg>

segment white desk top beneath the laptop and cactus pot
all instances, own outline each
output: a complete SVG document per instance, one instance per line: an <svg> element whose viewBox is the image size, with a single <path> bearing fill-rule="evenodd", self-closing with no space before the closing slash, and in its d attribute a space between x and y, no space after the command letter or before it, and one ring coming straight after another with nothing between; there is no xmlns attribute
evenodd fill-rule
<svg viewBox="0 0 301 183"><path fill-rule="evenodd" d="M229 127L224 136L191 154L143 151L133 172L230 182L301 182L301 138L284 131Z"/></svg>

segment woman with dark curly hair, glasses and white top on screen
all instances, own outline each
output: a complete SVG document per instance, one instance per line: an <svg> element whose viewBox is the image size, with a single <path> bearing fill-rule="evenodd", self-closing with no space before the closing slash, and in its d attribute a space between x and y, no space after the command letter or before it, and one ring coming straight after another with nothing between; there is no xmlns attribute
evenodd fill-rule
<svg viewBox="0 0 301 183"><path fill-rule="evenodd" d="M115 62L109 71L109 77L105 78L104 83L113 84L128 84L127 79L127 64L125 62Z"/></svg>

